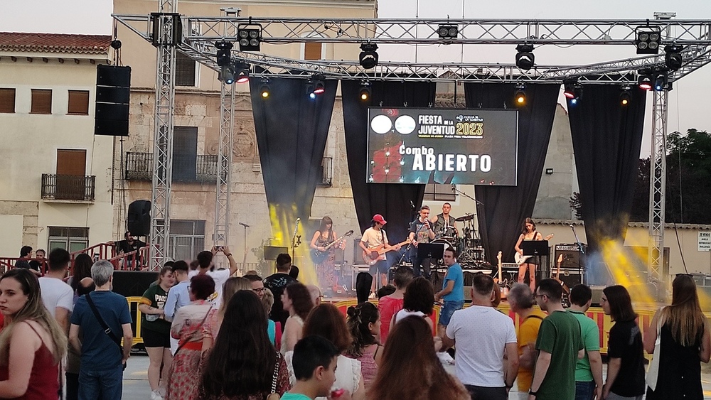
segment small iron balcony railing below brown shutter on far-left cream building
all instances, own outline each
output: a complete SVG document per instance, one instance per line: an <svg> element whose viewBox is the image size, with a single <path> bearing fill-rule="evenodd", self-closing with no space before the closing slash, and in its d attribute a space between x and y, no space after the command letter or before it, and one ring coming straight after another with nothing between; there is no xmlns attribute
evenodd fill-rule
<svg viewBox="0 0 711 400"><path fill-rule="evenodd" d="M58 202L94 202L94 175L42 174L42 199Z"/></svg>

